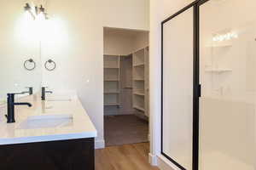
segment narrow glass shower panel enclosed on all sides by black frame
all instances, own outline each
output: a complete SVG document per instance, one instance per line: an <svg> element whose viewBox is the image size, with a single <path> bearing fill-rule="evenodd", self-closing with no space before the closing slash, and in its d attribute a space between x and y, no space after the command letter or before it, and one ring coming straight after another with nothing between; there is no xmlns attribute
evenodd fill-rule
<svg viewBox="0 0 256 170"><path fill-rule="evenodd" d="M193 8L164 25L163 152L192 169Z"/></svg>

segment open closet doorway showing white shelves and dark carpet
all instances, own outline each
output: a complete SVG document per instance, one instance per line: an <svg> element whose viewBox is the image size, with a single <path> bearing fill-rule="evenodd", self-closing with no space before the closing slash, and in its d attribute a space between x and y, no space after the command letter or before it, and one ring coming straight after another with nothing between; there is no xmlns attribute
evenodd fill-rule
<svg viewBox="0 0 256 170"><path fill-rule="evenodd" d="M104 28L106 146L148 142L148 31Z"/></svg>

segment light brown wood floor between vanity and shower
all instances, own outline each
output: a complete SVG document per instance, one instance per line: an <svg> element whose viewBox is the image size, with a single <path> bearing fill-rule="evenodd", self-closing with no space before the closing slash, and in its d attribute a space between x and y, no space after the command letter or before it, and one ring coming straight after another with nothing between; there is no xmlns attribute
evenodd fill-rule
<svg viewBox="0 0 256 170"><path fill-rule="evenodd" d="M148 143L96 150L96 170L159 170L148 163L148 152Z"/></svg>

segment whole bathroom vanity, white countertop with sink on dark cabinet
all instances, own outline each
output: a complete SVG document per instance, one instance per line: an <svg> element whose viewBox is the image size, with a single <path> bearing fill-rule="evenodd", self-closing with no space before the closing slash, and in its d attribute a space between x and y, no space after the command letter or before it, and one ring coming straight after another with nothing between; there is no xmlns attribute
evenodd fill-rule
<svg viewBox="0 0 256 170"><path fill-rule="evenodd" d="M77 97L20 99L15 123L0 115L1 170L94 170L96 128Z"/></svg>

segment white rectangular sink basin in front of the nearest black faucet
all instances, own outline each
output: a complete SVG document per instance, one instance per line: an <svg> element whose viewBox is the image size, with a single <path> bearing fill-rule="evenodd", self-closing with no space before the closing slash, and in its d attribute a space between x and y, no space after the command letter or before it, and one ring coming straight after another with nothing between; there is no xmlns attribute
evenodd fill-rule
<svg viewBox="0 0 256 170"><path fill-rule="evenodd" d="M73 115L29 116L21 122L19 129L68 127L73 124Z"/></svg>

